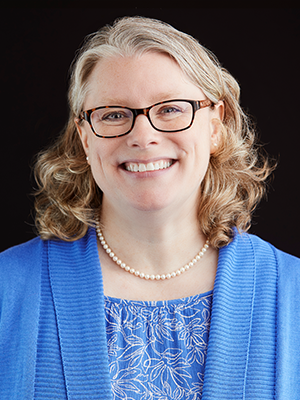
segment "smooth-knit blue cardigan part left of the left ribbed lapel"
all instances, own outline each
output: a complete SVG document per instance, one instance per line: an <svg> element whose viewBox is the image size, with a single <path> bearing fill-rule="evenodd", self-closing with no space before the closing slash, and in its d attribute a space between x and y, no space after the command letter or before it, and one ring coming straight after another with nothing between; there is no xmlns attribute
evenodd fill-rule
<svg viewBox="0 0 300 400"><path fill-rule="evenodd" d="M0 399L32 399L43 242L0 255Z"/></svg>

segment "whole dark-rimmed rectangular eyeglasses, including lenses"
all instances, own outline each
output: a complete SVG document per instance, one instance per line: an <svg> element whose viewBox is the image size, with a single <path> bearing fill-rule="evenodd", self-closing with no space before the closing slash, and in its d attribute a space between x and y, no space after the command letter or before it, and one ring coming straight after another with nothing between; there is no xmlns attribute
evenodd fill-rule
<svg viewBox="0 0 300 400"><path fill-rule="evenodd" d="M79 119L86 120L94 134L101 138L127 135L140 114L145 115L157 131L172 133L190 128L195 112L213 105L210 100L167 100L147 108L103 106L82 111Z"/></svg>

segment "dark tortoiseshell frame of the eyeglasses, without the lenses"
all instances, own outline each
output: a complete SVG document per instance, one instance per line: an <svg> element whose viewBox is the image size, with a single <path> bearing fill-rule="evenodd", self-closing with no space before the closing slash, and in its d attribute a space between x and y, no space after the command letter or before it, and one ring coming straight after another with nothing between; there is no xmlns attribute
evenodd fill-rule
<svg viewBox="0 0 300 400"><path fill-rule="evenodd" d="M172 103L173 101L185 101L185 102L190 103L190 104L192 105L192 108L193 108L193 115L192 115L192 120L191 120L190 124L189 124L186 128L183 128L183 129L176 129L176 130L172 130L172 131L157 129L157 128L153 125L153 123L152 123L152 121L151 121L151 118L150 118L150 116L149 116L149 112L150 112L151 108L153 108L153 107L155 107L155 106L158 106L158 105L160 105L160 104ZM189 128L193 125L193 122L194 122L194 119L195 119L195 113L196 113L196 111L200 110L201 108L205 108L205 107L209 107L209 106L213 107L213 106L214 106L214 103L213 103L211 100L208 100L208 99L206 99L206 100L187 100L187 99L165 100L165 101L160 101L160 102L158 102L158 103L155 103L155 104L153 104L152 106L147 107L147 108L130 108L130 107L125 107L125 106L100 106L100 107L96 107L96 108L91 108L90 110L82 111L82 112L79 114L79 120L80 120L80 121L82 121L82 120L87 121L87 122L89 123L91 129L92 129L92 132L93 132L97 137L100 137L100 138L103 138L103 139L113 139L113 138L116 138L116 137L121 137L121 136L128 135L128 133L130 133L130 132L132 131L133 127L134 127L134 123L135 123L136 117L137 117L138 115L141 115L141 114L142 114L142 115L145 115L145 116L148 118L148 121L150 122L152 128L154 128L156 131L158 131L158 132L165 132L165 133L174 133L174 132L181 132L181 131L185 131L186 129L189 129ZM99 133L95 132L95 130L94 130L94 128L93 128L92 121L91 121L91 115L92 115L92 113L93 113L94 111L100 110L100 109L102 109L102 108L126 108L127 110L130 110L130 111L132 112L132 115L133 115L131 128L130 128L127 132L121 133L120 135L114 135L114 136L103 136L103 135L99 135Z"/></svg>

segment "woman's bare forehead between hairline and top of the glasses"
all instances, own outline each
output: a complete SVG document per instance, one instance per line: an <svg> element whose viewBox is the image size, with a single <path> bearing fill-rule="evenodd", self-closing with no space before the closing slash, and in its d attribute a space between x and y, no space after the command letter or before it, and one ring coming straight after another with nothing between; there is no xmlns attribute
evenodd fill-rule
<svg viewBox="0 0 300 400"><path fill-rule="evenodd" d="M151 52L99 61L88 80L85 106L147 107L174 98L204 97L171 57Z"/></svg>

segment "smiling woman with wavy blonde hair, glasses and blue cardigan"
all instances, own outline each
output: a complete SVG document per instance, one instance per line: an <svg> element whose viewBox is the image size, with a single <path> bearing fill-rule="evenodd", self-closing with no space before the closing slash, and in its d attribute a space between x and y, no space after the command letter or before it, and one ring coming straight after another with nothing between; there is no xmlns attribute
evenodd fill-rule
<svg viewBox="0 0 300 400"><path fill-rule="evenodd" d="M1 399L296 399L299 260L245 233L272 167L234 78L123 18L69 102L40 237L1 255Z"/></svg>

